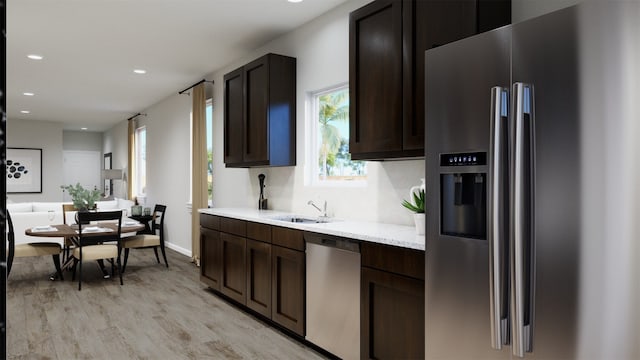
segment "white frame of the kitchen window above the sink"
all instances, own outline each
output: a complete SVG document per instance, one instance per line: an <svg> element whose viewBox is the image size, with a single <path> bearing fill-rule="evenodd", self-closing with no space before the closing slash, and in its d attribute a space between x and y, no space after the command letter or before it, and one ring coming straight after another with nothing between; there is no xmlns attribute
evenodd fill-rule
<svg viewBox="0 0 640 360"><path fill-rule="evenodd" d="M319 98L322 95L326 95L328 93L336 92L339 90L347 90L349 91L349 83L344 82L337 85L329 86L320 90L309 91L307 92L307 114L306 114L306 124L307 124L307 146L306 146L306 160L307 160L307 171L306 171L306 181L305 184L311 187L341 187L341 188L354 188L354 187L366 187L367 186L367 162L365 163L365 179L358 180L321 180L320 179L320 171L318 169L318 159L319 159L319 141L318 141L318 132L319 129ZM356 160L353 160L356 161Z"/></svg>

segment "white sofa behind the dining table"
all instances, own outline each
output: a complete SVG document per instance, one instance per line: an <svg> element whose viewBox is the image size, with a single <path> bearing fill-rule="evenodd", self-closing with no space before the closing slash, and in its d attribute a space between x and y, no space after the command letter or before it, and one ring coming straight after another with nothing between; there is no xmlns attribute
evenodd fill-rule
<svg viewBox="0 0 640 360"><path fill-rule="evenodd" d="M62 238L44 238L25 235L25 230L39 225L62 224L62 204L63 202L24 202L9 203L7 210L11 214L13 229L16 237L16 244L33 242L59 242ZM66 203L70 204L70 203ZM134 202L125 199L114 199L108 201L97 201L98 211L127 210L131 211ZM49 220L49 211L53 211L53 220ZM67 222L75 222L75 212L67 212Z"/></svg>

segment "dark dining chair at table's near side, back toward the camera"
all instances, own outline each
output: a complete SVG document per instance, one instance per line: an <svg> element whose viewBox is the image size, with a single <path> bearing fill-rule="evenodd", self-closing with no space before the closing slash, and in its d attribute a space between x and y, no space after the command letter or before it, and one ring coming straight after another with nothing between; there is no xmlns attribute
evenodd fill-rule
<svg viewBox="0 0 640 360"><path fill-rule="evenodd" d="M116 231L102 234L99 231L99 226L91 224L94 221L112 222L117 225ZM73 280L76 277L76 269L79 272L78 290L82 290L82 263L87 260L109 260L111 262L111 276L115 274L117 268L120 276L120 285L123 285L120 266L121 228L122 210L78 212L78 238L75 240L75 248L72 252ZM112 242L115 242L115 244Z"/></svg>

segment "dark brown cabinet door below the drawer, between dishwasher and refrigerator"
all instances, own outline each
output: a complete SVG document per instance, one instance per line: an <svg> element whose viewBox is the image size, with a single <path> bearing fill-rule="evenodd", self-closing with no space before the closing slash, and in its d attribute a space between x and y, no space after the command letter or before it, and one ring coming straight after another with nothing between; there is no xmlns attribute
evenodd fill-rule
<svg viewBox="0 0 640 360"><path fill-rule="evenodd" d="M362 268L360 357L424 359L424 281Z"/></svg>

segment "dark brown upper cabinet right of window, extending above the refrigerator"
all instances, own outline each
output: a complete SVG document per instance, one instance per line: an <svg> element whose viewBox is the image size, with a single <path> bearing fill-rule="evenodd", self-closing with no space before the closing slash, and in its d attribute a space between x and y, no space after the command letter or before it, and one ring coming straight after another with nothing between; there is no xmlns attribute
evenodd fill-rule
<svg viewBox="0 0 640 360"><path fill-rule="evenodd" d="M424 156L424 52L510 22L510 0L376 0L352 12L351 158Z"/></svg>

